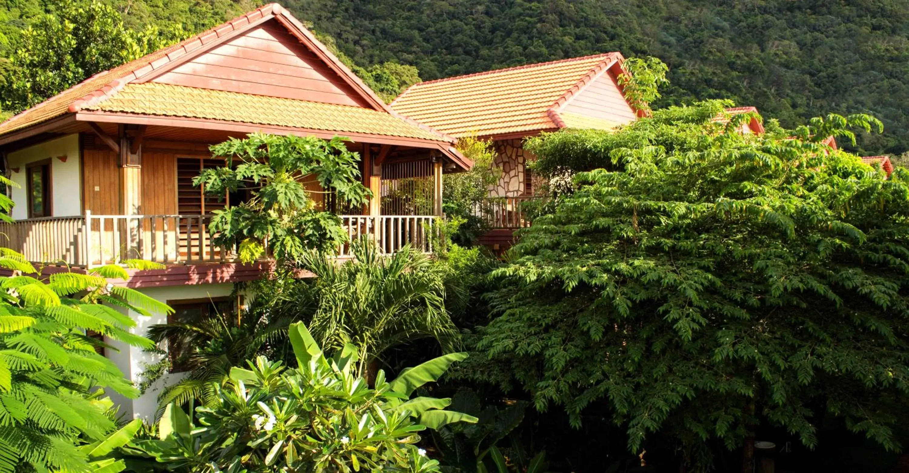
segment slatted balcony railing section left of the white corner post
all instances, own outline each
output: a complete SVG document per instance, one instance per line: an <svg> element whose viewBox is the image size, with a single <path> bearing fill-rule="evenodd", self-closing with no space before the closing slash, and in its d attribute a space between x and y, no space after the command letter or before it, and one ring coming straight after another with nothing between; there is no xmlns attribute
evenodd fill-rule
<svg viewBox="0 0 909 473"><path fill-rule="evenodd" d="M0 222L0 247L19 251L28 261L81 265L85 219L80 215Z"/></svg>

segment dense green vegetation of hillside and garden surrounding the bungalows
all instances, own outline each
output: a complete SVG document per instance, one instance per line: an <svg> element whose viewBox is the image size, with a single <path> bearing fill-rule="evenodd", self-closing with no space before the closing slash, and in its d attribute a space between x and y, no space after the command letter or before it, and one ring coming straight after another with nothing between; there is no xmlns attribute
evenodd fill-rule
<svg viewBox="0 0 909 473"><path fill-rule="evenodd" d="M105 2L4 5L6 113L255 6ZM244 260L278 261L273 279L236 288L257 295L245 309L145 339L111 306L172 310L108 284L127 278L119 266L45 278L0 248L13 273L0 275L0 473L751 473L763 440L780 471L909 458L909 170L824 144L909 148L907 5L287 6L385 99L417 74L615 49L664 58L670 85L652 117L617 132L526 143L549 195L524 208L534 225L502 259L446 241L432 258L379 258L359 241L329 262L318 251L344 240L341 222L287 176L315 172L359 205L355 156L340 138L262 134L213 146L239 164L195 180L215 195L260 186L210 227ZM642 96L663 81L651 82ZM766 133L736 132L752 115L714 120L734 102L759 106ZM475 163L489 146L459 143ZM453 240L475 236L454 217L494 179L480 166L446 180ZM0 194L0 211L12 204ZM172 362L188 370L157 393L160 419L117 421L102 388L147 386L86 329L192 347L146 367L149 381Z"/></svg>

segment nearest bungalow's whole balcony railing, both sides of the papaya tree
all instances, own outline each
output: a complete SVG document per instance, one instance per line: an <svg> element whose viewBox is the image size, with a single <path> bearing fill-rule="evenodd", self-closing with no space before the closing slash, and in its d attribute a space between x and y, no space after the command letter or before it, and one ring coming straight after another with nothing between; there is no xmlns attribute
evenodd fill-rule
<svg viewBox="0 0 909 473"><path fill-rule="evenodd" d="M433 215L340 215L350 241L367 236L392 253L410 244L432 252L438 230ZM92 268L142 259L164 264L236 261L234 248L216 246L208 233L211 215L85 215L0 223L7 241L28 261ZM0 237L2 238L2 237ZM350 256L350 243L339 257Z"/></svg>

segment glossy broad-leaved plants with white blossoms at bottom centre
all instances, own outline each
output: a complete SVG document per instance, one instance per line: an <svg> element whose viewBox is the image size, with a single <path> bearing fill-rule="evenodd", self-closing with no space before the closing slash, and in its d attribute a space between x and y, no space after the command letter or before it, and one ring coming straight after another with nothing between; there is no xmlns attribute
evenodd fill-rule
<svg viewBox="0 0 909 473"><path fill-rule="evenodd" d="M168 405L159 439L135 440L132 452L163 463L167 471L437 471L438 462L415 447L424 419L475 422L442 410L451 399L406 400L406 389L425 365L405 372L406 380L375 387L355 374L355 347L326 359L305 326L290 327L298 366L259 357L249 370L234 368L218 401L195 409L195 419ZM464 354L456 359L463 360ZM445 371L455 358L431 360ZM435 373L435 370L431 370ZM410 374L408 376L408 373ZM428 417L427 417L428 416ZM420 423L416 423L419 421ZM438 422L438 427L445 422Z"/></svg>

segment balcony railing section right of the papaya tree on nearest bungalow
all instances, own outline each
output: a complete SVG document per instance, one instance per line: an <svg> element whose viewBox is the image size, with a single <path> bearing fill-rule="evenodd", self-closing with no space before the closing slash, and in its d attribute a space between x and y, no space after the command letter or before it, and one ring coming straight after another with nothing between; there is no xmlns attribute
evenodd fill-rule
<svg viewBox="0 0 909 473"><path fill-rule="evenodd" d="M367 235L384 253L399 251L410 244L415 251L433 252L439 226L434 215L341 215L348 242L338 256L350 256L351 242Z"/></svg>

